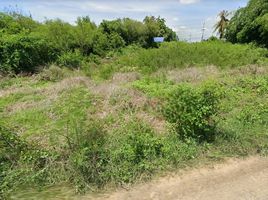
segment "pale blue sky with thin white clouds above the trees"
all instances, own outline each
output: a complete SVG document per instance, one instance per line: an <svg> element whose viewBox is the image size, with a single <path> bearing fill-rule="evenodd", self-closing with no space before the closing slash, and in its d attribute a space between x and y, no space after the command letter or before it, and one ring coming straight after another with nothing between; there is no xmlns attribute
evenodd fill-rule
<svg viewBox="0 0 268 200"><path fill-rule="evenodd" d="M220 11L246 4L247 0L0 0L0 11L16 9L38 21L60 18L72 24L78 16L89 16L97 24L103 19L160 16L181 40L199 41L203 26L205 39L216 34L213 26Z"/></svg>

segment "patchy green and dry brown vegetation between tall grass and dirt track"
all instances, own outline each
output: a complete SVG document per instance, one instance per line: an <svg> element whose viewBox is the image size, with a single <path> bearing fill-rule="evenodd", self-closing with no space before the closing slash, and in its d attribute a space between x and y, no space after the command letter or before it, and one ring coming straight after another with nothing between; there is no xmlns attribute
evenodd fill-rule
<svg viewBox="0 0 268 200"><path fill-rule="evenodd" d="M61 183L84 192L147 180L200 157L267 154L266 67L218 71L214 80L187 84L166 72L129 86L118 82L110 96L102 89L115 83L94 86L79 76L0 84L2 196ZM145 97L120 96L131 94L129 87ZM149 117L164 120L164 132Z"/></svg>

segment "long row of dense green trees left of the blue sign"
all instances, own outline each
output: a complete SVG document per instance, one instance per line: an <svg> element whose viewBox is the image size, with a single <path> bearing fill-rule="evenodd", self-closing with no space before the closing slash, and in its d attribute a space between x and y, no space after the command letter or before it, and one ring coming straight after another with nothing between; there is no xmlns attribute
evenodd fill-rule
<svg viewBox="0 0 268 200"><path fill-rule="evenodd" d="M176 34L160 17L146 17L143 22L104 20L97 26L89 17L79 17L71 25L60 19L39 23L18 13L0 13L0 72L34 72L52 61L77 67L83 57L103 57L126 45L153 47L156 36L176 40Z"/></svg>

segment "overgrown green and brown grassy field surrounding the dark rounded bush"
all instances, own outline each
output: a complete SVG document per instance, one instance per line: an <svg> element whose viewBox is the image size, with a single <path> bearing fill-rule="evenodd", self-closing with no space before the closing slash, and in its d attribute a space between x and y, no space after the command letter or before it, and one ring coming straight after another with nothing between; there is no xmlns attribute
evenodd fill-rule
<svg viewBox="0 0 268 200"><path fill-rule="evenodd" d="M82 71L55 66L32 77L1 80L0 196L56 185L77 192L99 191L150 180L204 158L267 155L266 51L222 42L170 43L123 52L88 69L86 74L98 82ZM187 83L176 82L169 73L178 68L173 76L192 75L191 68L180 68L202 70L207 65L218 66L216 75L204 70L204 77L210 78L198 81L193 76ZM141 75L128 84L103 81L122 71ZM83 81L73 79L81 76ZM195 92L208 83L217 84L216 92L221 93L213 116L215 138L182 139L180 129L163 115L164 105L178 88L187 85Z"/></svg>

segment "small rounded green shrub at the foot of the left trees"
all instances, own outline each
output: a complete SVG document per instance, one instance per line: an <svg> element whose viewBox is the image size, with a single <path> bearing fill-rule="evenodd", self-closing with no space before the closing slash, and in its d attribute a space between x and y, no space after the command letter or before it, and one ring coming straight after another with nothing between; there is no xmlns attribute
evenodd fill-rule
<svg viewBox="0 0 268 200"><path fill-rule="evenodd" d="M58 57L57 64L63 67L79 68L83 62L83 55L80 51L64 52Z"/></svg>

